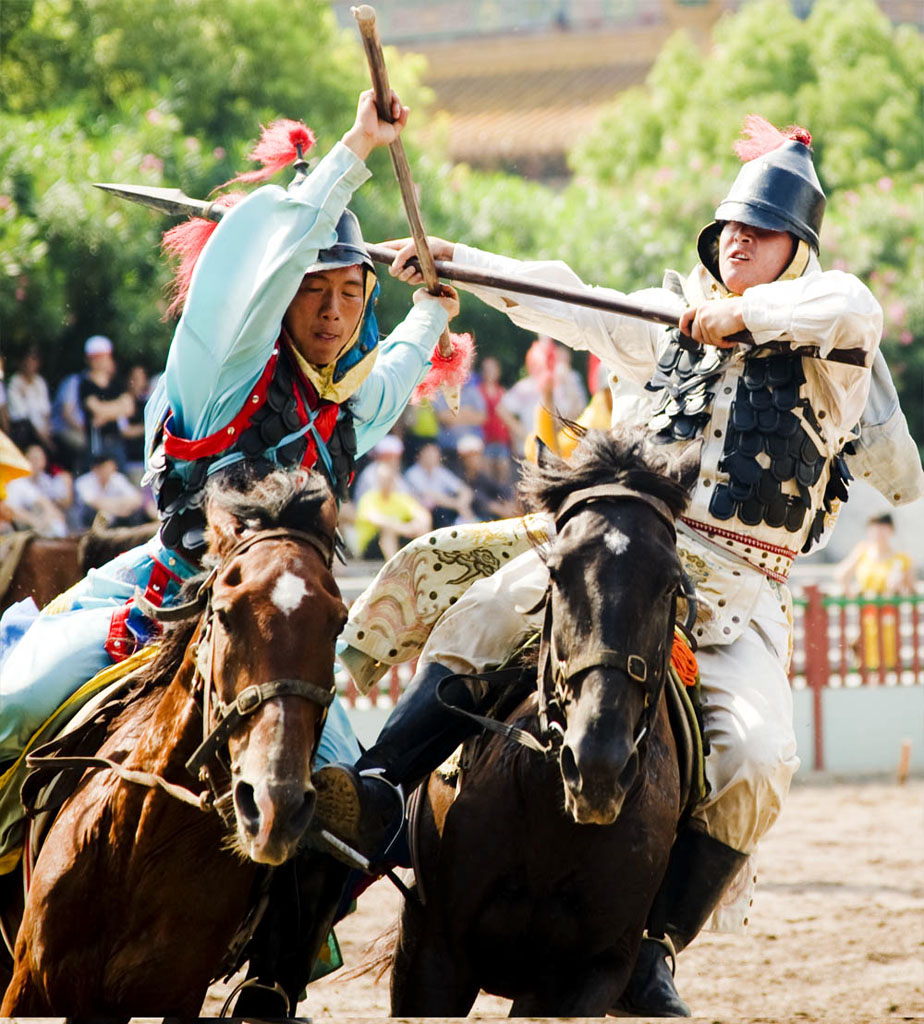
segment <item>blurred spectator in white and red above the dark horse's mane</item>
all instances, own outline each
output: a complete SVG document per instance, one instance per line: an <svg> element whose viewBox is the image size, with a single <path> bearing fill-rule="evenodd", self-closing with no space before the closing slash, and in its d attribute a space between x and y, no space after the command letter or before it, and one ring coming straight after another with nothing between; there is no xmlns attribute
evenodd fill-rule
<svg viewBox="0 0 924 1024"><path fill-rule="evenodd" d="M550 382L555 413L566 420L580 416L587 403L587 391L571 367L571 353L547 335L540 335L527 352L527 376L510 388L498 406L517 455L523 454L527 438L534 430L536 410Z"/></svg>

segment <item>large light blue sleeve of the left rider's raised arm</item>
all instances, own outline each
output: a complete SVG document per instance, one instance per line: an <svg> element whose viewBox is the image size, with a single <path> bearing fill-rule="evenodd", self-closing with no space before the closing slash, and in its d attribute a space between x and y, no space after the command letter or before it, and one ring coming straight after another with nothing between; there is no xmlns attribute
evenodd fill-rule
<svg viewBox="0 0 924 1024"><path fill-rule="evenodd" d="M336 241L337 220L368 177L338 142L289 190L264 185L222 217L196 264L167 355L175 432L196 440L241 411L304 268Z"/></svg>

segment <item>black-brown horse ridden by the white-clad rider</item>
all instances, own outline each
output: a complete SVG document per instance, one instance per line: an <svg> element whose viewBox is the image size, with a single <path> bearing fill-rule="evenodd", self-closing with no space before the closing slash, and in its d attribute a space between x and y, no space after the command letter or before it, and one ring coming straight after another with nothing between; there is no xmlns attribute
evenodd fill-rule
<svg viewBox="0 0 924 1024"><path fill-rule="evenodd" d="M522 485L551 512L538 695L493 736L461 793L425 794L418 886L392 972L396 1017L599 1017L626 986L680 814L663 689L682 572L674 517L699 461L590 433Z"/></svg>

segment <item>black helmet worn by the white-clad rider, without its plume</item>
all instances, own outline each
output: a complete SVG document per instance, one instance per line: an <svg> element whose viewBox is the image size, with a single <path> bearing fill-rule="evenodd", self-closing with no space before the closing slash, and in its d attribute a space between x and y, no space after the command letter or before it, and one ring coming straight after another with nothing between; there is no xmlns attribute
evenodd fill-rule
<svg viewBox="0 0 924 1024"><path fill-rule="evenodd" d="M789 231L817 252L825 202L811 150L804 142L787 139L749 160L739 171L731 190L715 211L715 220L700 231L700 259L718 279L718 237L728 220L770 231Z"/></svg>

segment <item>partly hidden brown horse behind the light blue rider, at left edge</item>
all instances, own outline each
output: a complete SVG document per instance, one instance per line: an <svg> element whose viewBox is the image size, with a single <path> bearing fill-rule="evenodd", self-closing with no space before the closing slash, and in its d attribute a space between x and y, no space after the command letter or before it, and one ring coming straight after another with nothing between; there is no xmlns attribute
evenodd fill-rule
<svg viewBox="0 0 924 1024"><path fill-rule="evenodd" d="M82 580L89 569L143 544L154 537L157 528L157 523L152 522L113 528L94 526L86 534L59 539L24 538L22 554L8 585L0 593L0 612L27 597L43 608L52 598Z"/></svg>

